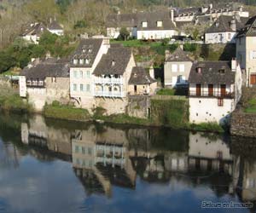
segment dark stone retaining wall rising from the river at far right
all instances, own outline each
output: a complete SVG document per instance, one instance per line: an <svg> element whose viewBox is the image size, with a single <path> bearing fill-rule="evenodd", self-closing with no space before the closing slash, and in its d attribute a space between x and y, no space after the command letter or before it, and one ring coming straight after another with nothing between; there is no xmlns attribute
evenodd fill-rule
<svg viewBox="0 0 256 213"><path fill-rule="evenodd" d="M256 114L236 110L231 115L231 135L256 137Z"/></svg>

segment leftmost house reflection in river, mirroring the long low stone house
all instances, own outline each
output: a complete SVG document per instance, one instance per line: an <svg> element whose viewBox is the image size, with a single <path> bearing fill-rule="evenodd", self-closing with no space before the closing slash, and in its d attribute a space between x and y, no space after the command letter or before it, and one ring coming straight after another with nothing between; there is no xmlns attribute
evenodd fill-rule
<svg viewBox="0 0 256 213"><path fill-rule="evenodd" d="M45 124L44 117L35 115L28 124L21 124L21 140L31 147L53 152L69 160L71 156L71 133Z"/></svg>

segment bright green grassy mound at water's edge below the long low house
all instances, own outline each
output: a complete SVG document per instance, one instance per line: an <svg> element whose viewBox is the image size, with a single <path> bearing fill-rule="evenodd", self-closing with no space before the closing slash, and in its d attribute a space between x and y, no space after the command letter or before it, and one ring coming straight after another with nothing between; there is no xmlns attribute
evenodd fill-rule
<svg viewBox="0 0 256 213"><path fill-rule="evenodd" d="M45 105L44 115L48 118L76 121L88 121L90 119L88 110L69 105L61 105L58 101L54 101L51 105Z"/></svg>

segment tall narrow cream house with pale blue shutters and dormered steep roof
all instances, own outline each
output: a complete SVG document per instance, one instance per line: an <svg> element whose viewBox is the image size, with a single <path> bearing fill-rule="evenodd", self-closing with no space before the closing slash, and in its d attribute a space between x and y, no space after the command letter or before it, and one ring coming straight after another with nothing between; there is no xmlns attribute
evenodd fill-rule
<svg viewBox="0 0 256 213"><path fill-rule="evenodd" d="M107 38L84 38L70 61L70 97L77 107L88 110L95 107L93 72L108 52Z"/></svg>

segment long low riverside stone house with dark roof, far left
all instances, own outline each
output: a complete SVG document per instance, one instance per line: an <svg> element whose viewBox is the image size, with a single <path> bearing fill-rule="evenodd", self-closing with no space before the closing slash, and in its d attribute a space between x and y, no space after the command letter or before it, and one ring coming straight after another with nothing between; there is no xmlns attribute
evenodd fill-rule
<svg viewBox="0 0 256 213"><path fill-rule="evenodd" d="M26 66L20 72L20 96L28 99L37 111L45 103L69 101L68 60L49 58Z"/></svg>

